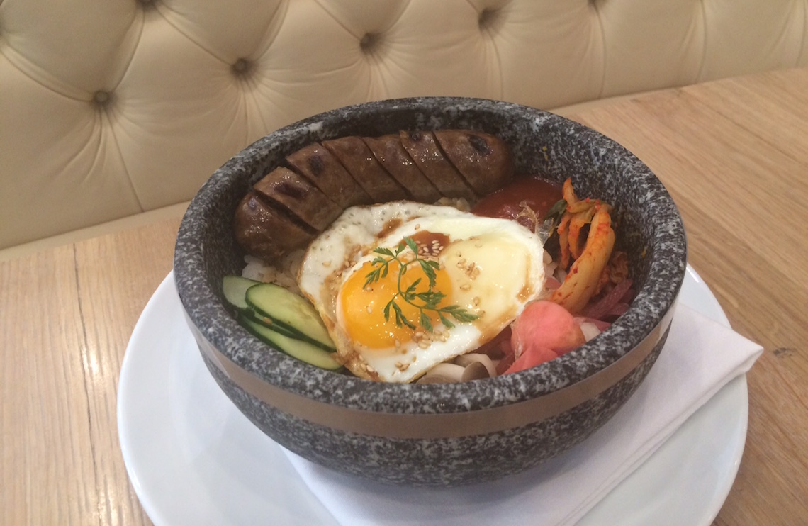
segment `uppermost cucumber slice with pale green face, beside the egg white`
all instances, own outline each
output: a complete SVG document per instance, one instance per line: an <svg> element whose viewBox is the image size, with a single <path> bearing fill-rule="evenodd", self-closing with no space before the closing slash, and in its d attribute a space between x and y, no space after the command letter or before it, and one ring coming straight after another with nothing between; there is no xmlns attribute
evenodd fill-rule
<svg viewBox="0 0 808 526"><path fill-rule="evenodd" d="M280 285L261 283L248 288L244 299L260 316L270 318L273 326L277 324L287 332L300 333L301 339L313 339L329 349L335 348L322 318L304 297Z"/></svg>

